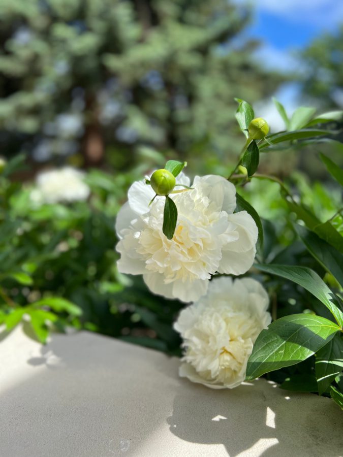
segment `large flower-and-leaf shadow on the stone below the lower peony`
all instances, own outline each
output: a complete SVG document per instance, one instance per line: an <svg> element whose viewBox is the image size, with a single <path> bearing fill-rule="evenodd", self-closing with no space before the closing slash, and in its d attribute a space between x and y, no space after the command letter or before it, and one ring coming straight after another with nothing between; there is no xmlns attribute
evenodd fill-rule
<svg viewBox="0 0 343 457"><path fill-rule="evenodd" d="M264 379L232 390L189 384L181 386L167 419L170 431L182 440L222 444L230 457L338 455L332 418L338 421L339 411L328 399L290 393Z"/></svg>

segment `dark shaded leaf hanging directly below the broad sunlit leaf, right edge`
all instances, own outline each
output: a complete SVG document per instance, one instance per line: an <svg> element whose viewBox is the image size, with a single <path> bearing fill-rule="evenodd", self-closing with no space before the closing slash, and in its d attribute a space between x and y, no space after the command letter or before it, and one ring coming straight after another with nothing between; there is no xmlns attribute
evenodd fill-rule
<svg viewBox="0 0 343 457"><path fill-rule="evenodd" d="M316 377L319 395L327 391L331 382L343 369L343 339L336 334L316 354Z"/></svg>

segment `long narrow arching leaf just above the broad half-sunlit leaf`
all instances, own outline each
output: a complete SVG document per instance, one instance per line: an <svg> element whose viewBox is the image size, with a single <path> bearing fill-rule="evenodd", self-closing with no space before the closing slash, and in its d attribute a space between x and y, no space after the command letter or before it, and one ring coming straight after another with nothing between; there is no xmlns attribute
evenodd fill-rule
<svg viewBox="0 0 343 457"><path fill-rule="evenodd" d="M339 304L334 293L331 292L325 282L313 270L307 267L273 264L255 264L255 267L265 273L289 279L311 292L331 311L340 327L343 327L343 313L339 309Z"/></svg>

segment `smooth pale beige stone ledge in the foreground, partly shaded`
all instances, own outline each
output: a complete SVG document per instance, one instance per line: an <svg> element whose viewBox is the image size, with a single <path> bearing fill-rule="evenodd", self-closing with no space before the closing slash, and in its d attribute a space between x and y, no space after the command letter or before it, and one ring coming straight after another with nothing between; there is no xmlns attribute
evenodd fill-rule
<svg viewBox="0 0 343 457"><path fill-rule="evenodd" d="M180 379L178 364L86 332L41 346L16 329L0 343L0 455L342 455L332 401L263 379L211 390Z"/></svg>

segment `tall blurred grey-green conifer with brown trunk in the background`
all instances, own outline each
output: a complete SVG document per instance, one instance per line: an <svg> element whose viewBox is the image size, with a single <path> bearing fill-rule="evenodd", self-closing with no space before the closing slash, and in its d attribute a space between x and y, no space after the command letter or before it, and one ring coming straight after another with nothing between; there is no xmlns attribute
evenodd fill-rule
<svg viewBox="0 0 343 457"><path fill-rule="evenodd" d="M281 80L236 44L250 15L228 0L3 0L0 17L8 153L123 167L147 144L211 161L237 150L233 98Z"/></svg>

